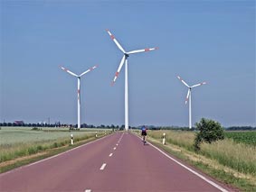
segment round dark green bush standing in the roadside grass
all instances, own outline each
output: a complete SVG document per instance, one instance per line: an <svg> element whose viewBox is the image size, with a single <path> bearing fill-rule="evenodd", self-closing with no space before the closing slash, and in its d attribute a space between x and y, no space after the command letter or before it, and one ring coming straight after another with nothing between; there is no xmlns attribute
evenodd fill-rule
<svg viewBox="0 0 256 192"><path fill-rule="evenodd" d="M195 151L200 151L202 142L212 143L224 139L224 130L221 123L202 118L200 123L195 123L195 126L199 131L194 138Z"/></svg>

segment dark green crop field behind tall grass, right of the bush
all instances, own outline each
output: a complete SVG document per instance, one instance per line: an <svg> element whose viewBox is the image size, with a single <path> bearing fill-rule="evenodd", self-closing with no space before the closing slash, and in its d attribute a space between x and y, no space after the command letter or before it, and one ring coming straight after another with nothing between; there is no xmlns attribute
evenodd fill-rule
<svg viewBox="0 0 256 192"><path fill-rule="evenodd" d="M225 137L256 147L256 132L225 132Z"/></svg>

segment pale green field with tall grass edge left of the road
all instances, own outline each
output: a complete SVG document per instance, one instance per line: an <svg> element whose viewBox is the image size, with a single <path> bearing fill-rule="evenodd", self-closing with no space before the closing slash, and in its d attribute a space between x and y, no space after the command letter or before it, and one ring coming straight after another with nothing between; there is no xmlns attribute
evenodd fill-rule
<svg viewBox="0 0 256 192"><path fill-rule="evenodd" d="M28 127L2 127L0 130L0 163L15 160L20 157L36 154L38 152L68 146L71 143L71 134L74 142L88 140L98 135L109 133L102 129L69 129L43 128L32 130Z"/></svg>

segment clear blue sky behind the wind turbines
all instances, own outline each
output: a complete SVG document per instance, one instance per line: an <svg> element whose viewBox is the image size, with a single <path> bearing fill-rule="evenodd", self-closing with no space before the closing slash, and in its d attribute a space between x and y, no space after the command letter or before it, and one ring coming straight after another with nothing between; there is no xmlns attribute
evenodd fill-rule
<svg viewBox="0 0 256 192"><path fill-rule="evenodd" d="M128 58L129 125L192 123L256 126L255 1L0 1L0 121L124 124L125 50L158 47Z"/></svg>

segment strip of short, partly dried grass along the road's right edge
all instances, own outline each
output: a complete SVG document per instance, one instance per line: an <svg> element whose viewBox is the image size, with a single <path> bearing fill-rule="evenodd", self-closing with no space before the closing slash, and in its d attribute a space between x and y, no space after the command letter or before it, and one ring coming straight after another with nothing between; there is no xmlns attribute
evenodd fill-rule
<svg viewBox="0 0 256 192"><path fill-rule="evenodd" d="M227 168L216 160L206 158L192 151L187 151L185 148L177 145L168 142L166 142L166 145L163 145L161 141L152 137L147 137L147 139L168 154L184 160L186 163L193 165L202 172L223 182L225 185L232 186L233 191L256 191L256 178L250 174L243 174L234 169Z"/></svg>

